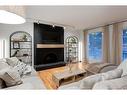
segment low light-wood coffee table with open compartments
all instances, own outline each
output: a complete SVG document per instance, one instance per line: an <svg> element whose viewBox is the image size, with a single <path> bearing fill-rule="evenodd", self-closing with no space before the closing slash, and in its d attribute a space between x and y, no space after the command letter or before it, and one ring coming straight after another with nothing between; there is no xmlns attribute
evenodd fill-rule
<svg viewBox="0 0 127 95"><path fill-rule="evenodd" d="M59 87L60 85L79 81L85 76L86 71L83 69L74 69L72 71L65 70L64 72L54 73L52 80L56 83L57 87Z"/></svg>

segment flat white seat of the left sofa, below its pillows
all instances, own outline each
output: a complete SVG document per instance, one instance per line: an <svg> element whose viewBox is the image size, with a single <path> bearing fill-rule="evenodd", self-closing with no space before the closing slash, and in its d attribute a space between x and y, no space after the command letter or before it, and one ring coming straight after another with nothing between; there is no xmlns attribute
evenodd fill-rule
<svg viewBox="0 0 127 95"><path fill-rule="evenodd" d="M12 87L7 87L4 89L7 90L43 90L46 89L43 81L39 78L37 75L37 72L32 68L31 74L25 75L21 79L23 81L22 84L12 86Z"/></svg>

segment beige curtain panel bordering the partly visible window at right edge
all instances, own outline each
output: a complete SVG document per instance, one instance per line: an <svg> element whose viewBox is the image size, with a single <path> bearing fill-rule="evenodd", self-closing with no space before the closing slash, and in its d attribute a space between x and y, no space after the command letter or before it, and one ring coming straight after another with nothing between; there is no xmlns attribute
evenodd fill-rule
<svg viewBox="0 0 127 95"><path fill-rule="evenodd" d="M120 64L122 61L122 31L123 23L113 24L111 62L115 64Z"/></svg>

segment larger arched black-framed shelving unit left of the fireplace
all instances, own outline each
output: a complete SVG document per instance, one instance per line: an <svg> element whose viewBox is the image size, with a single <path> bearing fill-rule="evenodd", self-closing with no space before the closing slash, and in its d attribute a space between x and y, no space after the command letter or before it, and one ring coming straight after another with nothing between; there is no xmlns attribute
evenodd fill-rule
<svg viewBox="0 0 127 95"><path fill-rule="evenodd" d="M10 35L10 57L17 57L22 62L32 65L32 37L24 31Z"/></svg>

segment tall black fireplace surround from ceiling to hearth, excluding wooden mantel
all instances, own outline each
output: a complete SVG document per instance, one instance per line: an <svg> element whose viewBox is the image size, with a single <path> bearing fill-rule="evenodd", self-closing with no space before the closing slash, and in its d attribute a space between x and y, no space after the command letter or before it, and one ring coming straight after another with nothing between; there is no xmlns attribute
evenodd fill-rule
<svg viewBox="0 0 127 95"><path fill-rule="evenodd" d="M39 71L65 65L64 47L37 47L38 44L64 46L63 27L34 23L34 67Z"/></svg>

